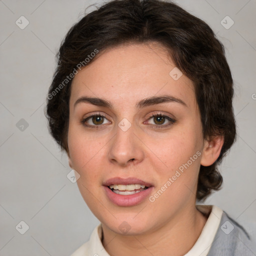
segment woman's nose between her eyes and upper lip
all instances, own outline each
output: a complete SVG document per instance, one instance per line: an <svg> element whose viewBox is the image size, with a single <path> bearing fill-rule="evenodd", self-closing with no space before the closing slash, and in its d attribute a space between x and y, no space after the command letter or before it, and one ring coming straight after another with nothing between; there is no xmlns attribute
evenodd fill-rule
<svg viewBox="0 0 256 256"><path fill-rule="evenodd" d="M126 131L117 126L116 134L109 141L109 161L119 166L126 166L141 162L143 157L143 143L134 133L133 125Z"/></svg>

